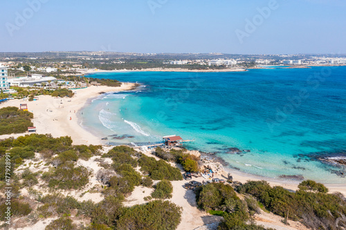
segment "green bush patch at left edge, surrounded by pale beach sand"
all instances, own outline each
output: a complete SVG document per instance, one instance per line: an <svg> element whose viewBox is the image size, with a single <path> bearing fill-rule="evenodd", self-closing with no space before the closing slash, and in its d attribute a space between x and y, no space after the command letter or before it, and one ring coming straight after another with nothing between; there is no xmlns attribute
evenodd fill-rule
<svg viewBox="0 0 346 230"><path fill-rule="evenodd" d="M0 135L24 133L33 126L33 113L21 111L17 107L0 109Z"/></svg>

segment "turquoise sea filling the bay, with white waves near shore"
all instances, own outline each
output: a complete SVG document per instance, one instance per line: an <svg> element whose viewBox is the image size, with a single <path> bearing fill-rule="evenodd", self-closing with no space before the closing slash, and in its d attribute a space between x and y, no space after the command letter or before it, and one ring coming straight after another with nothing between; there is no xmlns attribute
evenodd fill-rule
<svg viewBox="0 0 346 230"><path fill-rule="evenodd" d="M345 169L317 160L346 156L346 67L89 77L141 84L82 109L82 125L110 144L181 135L195 140L187 148L215 153L245 173L346 182ZM234 154L233 147L251 152Z"/></svg>

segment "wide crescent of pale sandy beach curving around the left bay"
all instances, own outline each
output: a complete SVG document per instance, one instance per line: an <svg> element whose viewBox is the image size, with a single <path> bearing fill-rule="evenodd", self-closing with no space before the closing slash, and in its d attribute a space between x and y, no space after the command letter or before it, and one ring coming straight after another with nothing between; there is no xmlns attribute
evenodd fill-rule
<svg viewBox="0 0 346 230"><path fill-rule="evenodd" d="M37 128L37 133L51 133L53 137L69 135L73 144L101 144L102 137L86 131L78 122L78 111L86 104L88 99L98 97L101 92L116 92L130 90L134 84L125 83L120 87L90 86L73 90L75 95L72 98L55 98L49 95L40 95L39 100L28 102L23 99L12 99L0 105L0 108L7 106L19 107L20 104L28 104L28 111L34 114L33 124ZM18 133L14 135L0 135L0 139L8 137L19 137L28 133Z"/></svg>

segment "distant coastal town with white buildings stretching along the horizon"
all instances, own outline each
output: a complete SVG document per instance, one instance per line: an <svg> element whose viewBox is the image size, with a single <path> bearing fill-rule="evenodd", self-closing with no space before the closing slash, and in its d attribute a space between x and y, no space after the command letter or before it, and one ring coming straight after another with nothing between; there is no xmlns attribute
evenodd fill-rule
<svg viewBox="0 0 346 230"><path fill-rule="evenodd" d="M346 55L228 55L154 54L127 52L7 52L0 55L2 94L15 87L83 88L78 81L87 73L102 70L232 70L282 66L343 66ZM67 77L67 78L66 78ZM69 77L69 78L68 78ZM72 79L72 80L71 80ZM93 82L97 84L97 82Z"/></svg>

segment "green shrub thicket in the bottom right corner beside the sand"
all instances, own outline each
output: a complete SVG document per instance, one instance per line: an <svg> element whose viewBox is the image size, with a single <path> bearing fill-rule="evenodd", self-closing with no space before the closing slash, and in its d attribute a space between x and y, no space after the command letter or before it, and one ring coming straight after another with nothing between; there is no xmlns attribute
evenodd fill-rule
<svg viewBox="0 0 346 230"><path fill-rule="evenodd" d="M247 182L239 186L240 193L248 193L264 207L283 218L298 220L312 229L340 229L346 227L346 200L340 193L329 194L322 184L311 180L299 185L295 193L268 182Z"/></svg>

